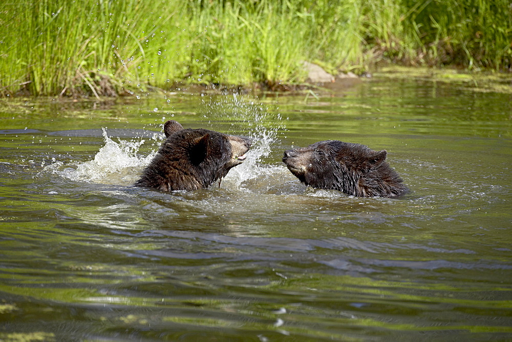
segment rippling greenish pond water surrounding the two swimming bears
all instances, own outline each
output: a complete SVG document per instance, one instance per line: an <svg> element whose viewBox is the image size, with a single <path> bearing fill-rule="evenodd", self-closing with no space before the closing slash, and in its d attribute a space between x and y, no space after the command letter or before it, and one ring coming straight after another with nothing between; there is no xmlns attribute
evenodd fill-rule
<svg viewBox="0 0 512 342"><path fill-rule="evenodd" d="M512 339L511 103L387 79L3 100L0 339ZM170 118L255 144L220 188L131 187ZM284 149L326 139L387 149L411 193L301 185Z"/></svg>

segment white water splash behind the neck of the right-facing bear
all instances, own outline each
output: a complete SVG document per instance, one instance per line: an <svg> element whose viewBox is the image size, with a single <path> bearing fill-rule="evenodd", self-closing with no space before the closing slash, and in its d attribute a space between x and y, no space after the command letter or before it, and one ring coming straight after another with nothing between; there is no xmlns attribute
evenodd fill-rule
<svg viewBox="0 0 512 342"><path fill-rule="evenodd" d="M146 157L139 157L137 152L144 140L115 142L103 130L105 145L101 147L93 160L64 164L57 161L46 166L43 171L57 174L74 181L102 184L129 185L137 180L140 170L150 163L156 152ZM157 135L153 139L158 139Z"/></svg>

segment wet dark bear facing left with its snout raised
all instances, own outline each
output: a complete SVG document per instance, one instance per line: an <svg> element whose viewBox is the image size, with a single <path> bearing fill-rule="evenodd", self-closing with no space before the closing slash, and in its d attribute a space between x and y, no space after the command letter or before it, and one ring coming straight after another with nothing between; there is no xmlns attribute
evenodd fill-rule
<svg viewBox="0 0 512 342"><path fill-rule="evenodd" d="M283 162L302 183L350 196L397 197L409 189L386 162L387 151L339 140L288 149Z"/></svg>

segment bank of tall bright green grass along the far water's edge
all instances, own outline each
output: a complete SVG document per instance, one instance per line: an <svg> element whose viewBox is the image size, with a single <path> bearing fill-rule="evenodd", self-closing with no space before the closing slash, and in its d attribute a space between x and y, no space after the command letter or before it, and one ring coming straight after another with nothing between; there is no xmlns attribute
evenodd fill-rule
<svg viewBox="0 0 512 342"><path fill-rule="evenodd" d="M177 82L304 82L301 61L510 70L505 0L13 0L0 94L115 96Z"/></svg>

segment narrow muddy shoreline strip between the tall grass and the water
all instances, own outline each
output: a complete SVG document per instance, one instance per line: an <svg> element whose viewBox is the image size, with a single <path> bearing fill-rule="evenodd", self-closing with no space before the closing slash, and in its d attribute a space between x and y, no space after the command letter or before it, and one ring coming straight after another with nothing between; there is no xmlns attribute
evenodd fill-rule
<svg viewBox="0 0 512 342"><path fill-rule="evenodd" d="M123 91L109 92L103 94L96 91L95 93L83 91L75 94L65 95L33 95L28 91L19 91L16 94L0 95L0 99L19 99L19 98L37 98L37 97L57 97L59 99L116 99L137 97L141 94L151 96L152 94L169 94L169 93L188 93L188 94L335 94L343 92L371 78L385 79L412 79L425 82L452 83L464 88L470 88L475 92L497 92L512 94L512 73L511 72L495 72L495 71L468 71L456 68L429 68L429 67L405 67L397 65L387 65L366 73L363 76L336 75L332 76L332 81L322 82L316 81L298 83L298 84L269 84L252 82L251 84L218 84L218 83L173 83L173 86L161 89L158 87L147 87L135 93L130 89L122 89ZM313 97L316 95L313 95Z"/></svg>

